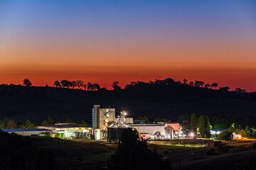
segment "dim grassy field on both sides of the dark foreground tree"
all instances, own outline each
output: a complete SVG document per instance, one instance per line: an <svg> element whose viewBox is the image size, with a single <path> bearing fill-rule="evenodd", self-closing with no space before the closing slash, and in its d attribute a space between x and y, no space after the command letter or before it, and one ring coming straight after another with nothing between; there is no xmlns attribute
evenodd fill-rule
<svg viewBox="0 0 256 170"><path fill-rule="evenodd" d="M117 145L110 145L105 141L96 140L60 140L50 137L31 137L31 140L38 146L50 149L55 155L55 169L98 169L107 167L108 159L114 154ZM196 143L186 144L164 144L160 142L148 142L149 149L156 147L164 159L170 159L172 166L177 168L180 160L181 166L198 166L194 162L203 162L204 166L212 164L211 160L222 161L222 157L229 160L227 167L231 166L232 159L239 160L239 153L244 152L251 157L252 149L256 148L255 140L233 140L223 142L223 147L210 148L197 145ZM193 164L193 165L192 165ZM240 163L242 164L242 163Z"/></svg>

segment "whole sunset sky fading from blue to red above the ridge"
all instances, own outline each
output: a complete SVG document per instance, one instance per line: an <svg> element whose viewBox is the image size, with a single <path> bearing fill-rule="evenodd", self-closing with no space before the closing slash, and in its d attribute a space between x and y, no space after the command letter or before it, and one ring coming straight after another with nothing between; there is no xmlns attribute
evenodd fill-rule
<svg viewBox="0 0 256 170"><path fill-rule="evenodd" d="M256 91L256 1L0 1L0 84L167 77Z"/></svg>

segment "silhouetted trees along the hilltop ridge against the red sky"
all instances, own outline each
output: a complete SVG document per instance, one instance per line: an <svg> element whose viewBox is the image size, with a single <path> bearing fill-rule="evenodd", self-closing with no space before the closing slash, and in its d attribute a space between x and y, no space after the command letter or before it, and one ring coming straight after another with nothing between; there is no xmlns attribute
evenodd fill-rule
<svg viewBox="0 0 256 170"><path fill-rule="evenodd" d="M223 86L220 87L218 86L218 83L206 83L204 81L188 81L187 79L183 79L183 81L175 81L174 79L171 78L167 78L167 79L163 79L163 80L159 80L156 79L155 81L132 81L130 84L127 84L124 86L124 89L131 89L132 87L135 86L142 86L145 84L149 84L149 85L187 85L187 86L196 86L196 87L202 87L202 88L207 88L207 89L215 89L215 90L220 90L220 91L229 91L230 87L229 86ZM21 84L15 85L15 84L0 84L0 86L21 86ZM32 83L29 79L23 79L22 81L22 86L32 86ZM46 86L48 86L48 84L46 84ZM82 80L61 80L61 81L54 81L53 82L53 86L55 87L63 87L63 88L67 88L67 89L83 89L83 90L88 90L88 91L107 91L106 87L101 87L100 84L92 84L91 82L85 83ZM119 86L119 81L114 81L112 83L112 88L114 90L120 90L122 89L121 86ZM235 91L239 92L239 93L245 93L246 90L245 89L241 89L241 88L236 88Z"/></svg>

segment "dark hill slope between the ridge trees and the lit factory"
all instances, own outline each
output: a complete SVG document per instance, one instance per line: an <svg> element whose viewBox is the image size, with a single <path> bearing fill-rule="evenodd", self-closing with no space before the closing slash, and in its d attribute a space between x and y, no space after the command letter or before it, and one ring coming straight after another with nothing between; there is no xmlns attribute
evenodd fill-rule
<svg viewBox="0 0 256 170"><path fill-rule="evenodd" d="M144 84L120 91L83 91L53 87L0 87L0 119L32 120L41 123L48 116L60 121L87 120L93 104L111 106L117 113L147 115L176 121L182 113L220 115L252 121L256 113L254 94L233 94L186 85L150 86ZM252 123L250 123L252 124Z"/></svg>

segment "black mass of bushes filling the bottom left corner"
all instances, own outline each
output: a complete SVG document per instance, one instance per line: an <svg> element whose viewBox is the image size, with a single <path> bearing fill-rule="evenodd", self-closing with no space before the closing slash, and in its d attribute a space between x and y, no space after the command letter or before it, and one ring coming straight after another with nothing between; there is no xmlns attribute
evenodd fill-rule
<svg viewBox="0 0 256 170"><path fill-rule="evenodd" d="M0 169L55 169L53 152L38 147L29 137L0 132L0 146Z"/></svg>

